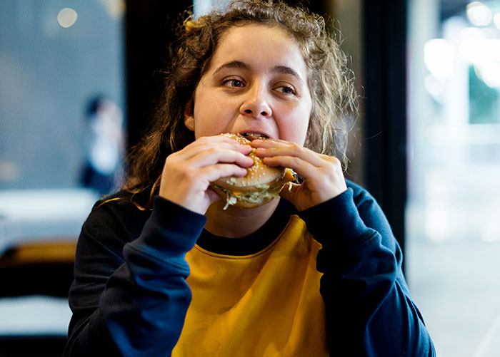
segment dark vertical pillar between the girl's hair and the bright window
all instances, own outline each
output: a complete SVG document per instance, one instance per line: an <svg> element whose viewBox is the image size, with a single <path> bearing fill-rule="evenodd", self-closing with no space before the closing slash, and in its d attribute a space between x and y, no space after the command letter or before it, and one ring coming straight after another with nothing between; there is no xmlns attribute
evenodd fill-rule
<svg viewBox="0 0 500 357"><path fill-rule="evenodd" d="M364 0L366 188L404 248L406 1Z"/></svg>

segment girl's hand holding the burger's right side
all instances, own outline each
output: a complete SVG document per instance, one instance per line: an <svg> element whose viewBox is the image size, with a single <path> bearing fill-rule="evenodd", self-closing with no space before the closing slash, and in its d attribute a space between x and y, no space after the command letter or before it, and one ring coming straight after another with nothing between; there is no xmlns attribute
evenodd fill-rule
<svg viewBox="0 0 500 357"><path fill-rule="evenodd" d="M269 166L289 167L304 177L300 185L285 185L280 196L303 211L347 190L339 159L319 154L285 140L254 140L256 155Z"/></svg>

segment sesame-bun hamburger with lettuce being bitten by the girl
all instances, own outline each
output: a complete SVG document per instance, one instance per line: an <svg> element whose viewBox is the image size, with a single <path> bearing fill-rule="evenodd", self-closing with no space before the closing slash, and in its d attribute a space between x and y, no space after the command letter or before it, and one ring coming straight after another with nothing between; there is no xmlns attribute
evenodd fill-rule
<svg viewBox="0 0 500 357"><path fill-rule="evenodd" d="M259 134L221 134L228 138L237 140L242 145L251 143L254 139L265 139ZM271 167L260 157L255 155L255 149L252 149L248 155L254 159L254 165L248 167L244 177L221 177L211 183L211 188L217 192L223 200L226 200L226 206L230 205L240 208L255 208L265 205L271 200L279 197L279 192L287 182L295 180L294 172L285 167Z"/></svg>

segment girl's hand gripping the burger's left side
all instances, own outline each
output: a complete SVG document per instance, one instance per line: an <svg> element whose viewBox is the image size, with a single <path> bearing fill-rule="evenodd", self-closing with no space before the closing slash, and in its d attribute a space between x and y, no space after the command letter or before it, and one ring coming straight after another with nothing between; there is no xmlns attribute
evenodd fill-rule
<svg viewBox="0 0 500 357"><path fill-rule="evenodd" d="M212 203L221 200L210 189L210 182L225 176L246 175L244 167L254 165L254 160L246 156L250 151L250 145L241 145L221 135L199 138L166 158L159 195L205 214Z"/></svg>

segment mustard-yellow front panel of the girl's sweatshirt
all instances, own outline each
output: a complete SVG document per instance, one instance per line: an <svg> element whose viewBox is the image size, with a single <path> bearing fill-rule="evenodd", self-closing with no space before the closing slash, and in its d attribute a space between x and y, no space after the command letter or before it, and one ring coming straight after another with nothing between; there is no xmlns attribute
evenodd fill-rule
<svg viewBox="0 0 500 357"><path fill-rule="evenodd" d="M321 244L293 215L256 254L186 254L192 301L172 356L328 356Z"/></svg>

